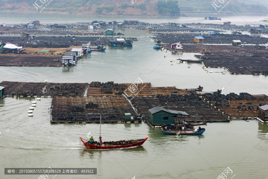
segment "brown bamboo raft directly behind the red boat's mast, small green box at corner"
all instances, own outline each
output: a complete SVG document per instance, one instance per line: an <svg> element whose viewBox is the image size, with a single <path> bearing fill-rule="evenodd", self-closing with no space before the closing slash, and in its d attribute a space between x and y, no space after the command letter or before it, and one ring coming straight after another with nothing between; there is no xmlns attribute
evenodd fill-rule
<svg viewBox="0 0 268 179"><path fill-rule="evenodd" d="M99 123L141 122L141 119L125 120L124 113L136 116L136 112L124 97L56 97L52 99L51 122Z"/></svg>

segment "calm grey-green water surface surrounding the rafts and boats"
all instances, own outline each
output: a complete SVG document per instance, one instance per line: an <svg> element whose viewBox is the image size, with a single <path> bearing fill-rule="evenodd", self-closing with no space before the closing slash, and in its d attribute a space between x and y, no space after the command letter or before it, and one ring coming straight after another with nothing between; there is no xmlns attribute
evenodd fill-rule
<svg viewBox="0 0 268 179"><path fill-rule="evenodd" d="M29 16L28 18L26 18ZM75 23L95 20L133 19L145 22L198 22L203 17L168 18L142 16L75 16L57 14L26 14L1 12L1 23L21 24L32 20L45 23ZM207 15L204 15L204 17ZM220 16L219 16L220 17ZM266 16L243 15L247 23ZM240 17L239 17L240 18ZM245 22L235 16L222 16L222 21ZM235 21L236 20L236 21ZM211 21L210 21L211 22ZM204 23L204 22L203 22ZM217 22L215 22L217 23ZM196 53L171 53L154 50L149 41L152 33L135 29L118 29L125 37L136 37L133 47L107 47L102 53L92 52L80 59L74 67L0 67L0 81L91 82L114 81L132 83L138 77L152 86L178 88L204 87L215 91L225 87L226 92L248 92L268 95L265 75L222 75L223 68L210 68L202 64L177 64L178 58L194 58ZM1 38L1 36L0 36ZM166 59L164 59L166 56ZM171 65L172 60L173 65ZM187 66L190 65L190 68ZM34 116L27 111L34 98L4 98L0 100L0 178L35 179L39 175L4 175L4 168L97 168L97 175L57 175L55 178L217 178L227 167L231 178L267 178L268 125L252 120L233 120L230 123L211 123L201 136L164 135L159 128L142 123L102 124L103 141L121 139L148 140L139 147L91 151L80 145L79 137L86 138L91 131L99 135L99 124L51 124L49 110L51 98L37 101ZM0 136L1 136L0 135ZM49 176L49 179L54 175Z"/></svg>

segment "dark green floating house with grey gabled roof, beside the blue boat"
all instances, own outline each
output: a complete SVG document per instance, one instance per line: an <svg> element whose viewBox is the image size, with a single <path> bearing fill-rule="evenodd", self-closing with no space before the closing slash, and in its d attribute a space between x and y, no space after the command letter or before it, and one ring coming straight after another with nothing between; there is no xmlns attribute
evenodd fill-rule
<svg viewBox="0 0 268 179"><path fill-rule="evenodd" d="M153 126L175 124L174 119L180 116L190 116L186 112L164 109L159 106L149 109L149 123Z"/></svg>

